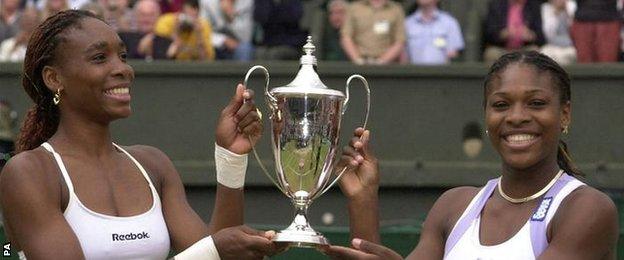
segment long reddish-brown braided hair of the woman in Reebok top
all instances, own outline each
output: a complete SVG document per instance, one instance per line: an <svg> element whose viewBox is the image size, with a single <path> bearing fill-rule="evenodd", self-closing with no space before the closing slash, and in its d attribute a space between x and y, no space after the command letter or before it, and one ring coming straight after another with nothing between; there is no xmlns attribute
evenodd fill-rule
<svg viewBox="0 0 624 260"><path fill-rule="evenodd" d="M69 28L80 28L80 21L89 17L99 19L88 11L59 12L41 23L30 37L22 70L22 87L34 105L26 114L16 153L36 148L56 132L59 109L52 102L54 93L46 87L42 71L45 66L58 62L59 46L66 40L64 32Z"/></svg>

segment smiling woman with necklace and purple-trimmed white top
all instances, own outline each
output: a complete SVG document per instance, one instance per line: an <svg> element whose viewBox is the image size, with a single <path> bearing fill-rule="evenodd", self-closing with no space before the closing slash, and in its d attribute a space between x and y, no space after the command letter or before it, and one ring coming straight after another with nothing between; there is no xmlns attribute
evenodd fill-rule
<svg viewBox="0 0 624 260"><path fill-rule="evenodd" d="M483 106L502 176L482 188L445 192L407 259L615 259L615 205L577 179L581 172L561 140L572 119L565 70L538 52L506 54L485 78ZM326 253L336 259L401 259L375 244L377 213L358 210L376 209L379 187L368 136L357 129L343 156L354 169L341 187L349 205L358 205L349 207L355 249L332 246Z"/></svg>

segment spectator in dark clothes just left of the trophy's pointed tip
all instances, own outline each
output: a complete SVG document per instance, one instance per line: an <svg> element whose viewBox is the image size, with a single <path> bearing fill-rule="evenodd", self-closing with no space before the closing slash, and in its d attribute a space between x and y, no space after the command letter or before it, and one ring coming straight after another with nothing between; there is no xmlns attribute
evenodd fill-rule
<svg viewBox="0 0 624 260"><path fill-rule="evenodd" d="M256 58L299 59L307 35L299 26L302 17L300 0L255 0L254 19L262 29Z"/></svg>

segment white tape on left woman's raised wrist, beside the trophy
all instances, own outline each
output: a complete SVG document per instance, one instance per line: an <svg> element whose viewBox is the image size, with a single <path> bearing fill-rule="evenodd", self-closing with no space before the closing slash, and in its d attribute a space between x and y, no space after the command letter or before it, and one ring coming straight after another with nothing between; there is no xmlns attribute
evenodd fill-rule
<svg viewBox="0 0 624 260"><path fill-rule="evenodd" d="M245 186L247 172L247 154L235 154L215 143L215 165L217 182L230 189Z"/></svg>

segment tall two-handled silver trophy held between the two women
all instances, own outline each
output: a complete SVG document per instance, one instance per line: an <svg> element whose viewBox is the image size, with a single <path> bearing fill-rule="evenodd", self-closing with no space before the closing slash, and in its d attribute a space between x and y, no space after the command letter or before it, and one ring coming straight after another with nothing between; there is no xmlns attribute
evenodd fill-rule
<svg viewBox="0 0 624 260"><path fill-rule="evenodd" d="M286 86L269 91L269 72L263 66L254 66L247 72L244 84L257 69L266 77L265 98L271 119L271 139L275 159L276 178L263 166L254 149L254 155L263 172L295 206L295 219L290 226L275 236L277 243L295 247L321 247L329 241L310 226L308 207L313 200L329 190L344 174L346 167L334 175L337 161L340 120L349 102L349 84L359 79L366 89L366 117L370 110L368 82L360 75L349 77L345 94L329 89L316 73L316 57L312 37L303 46L301 67L295 79ZM332 180L332 176L335 176Z"/></svg>

